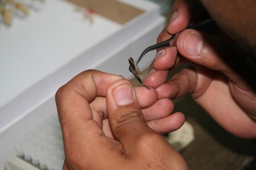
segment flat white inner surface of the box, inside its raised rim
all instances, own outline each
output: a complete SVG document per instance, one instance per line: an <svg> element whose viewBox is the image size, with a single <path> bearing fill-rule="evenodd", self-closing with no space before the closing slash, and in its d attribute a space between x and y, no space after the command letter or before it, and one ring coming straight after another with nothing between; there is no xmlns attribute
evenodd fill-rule
<svg viewBox="0 0 256 170"><path fill-rule="evenodd" d="M34 6L10 27L0 25L0 107L122 28L97 14L90 24L67 1Z"/></svg>

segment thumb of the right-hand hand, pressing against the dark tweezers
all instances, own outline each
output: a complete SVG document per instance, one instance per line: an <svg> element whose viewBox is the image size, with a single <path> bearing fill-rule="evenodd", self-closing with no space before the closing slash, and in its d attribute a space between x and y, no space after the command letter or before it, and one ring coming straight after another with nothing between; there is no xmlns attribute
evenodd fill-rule
<svg viewBox="0 0 256 170"><path fill-rule="evenodd" d="M222 59L223 55L230 53L231 47L219 37L197 30L184 30L177 40L177 48L182 56L194 63L212 70L227 72Z"/></svg>

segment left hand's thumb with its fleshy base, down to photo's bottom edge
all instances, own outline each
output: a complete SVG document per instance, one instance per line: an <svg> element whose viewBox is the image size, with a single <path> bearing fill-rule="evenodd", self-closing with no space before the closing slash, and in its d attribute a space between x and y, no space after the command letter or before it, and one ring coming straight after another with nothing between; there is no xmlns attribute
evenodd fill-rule
<svg viewBox="0 0 256 170"><path fill-rule="evenodd" d="M122 154L133 160L125 169L188 169L181 155L146 124L131 81L122 79L109 86L107 112L111 130L123 145Z"/></svg>

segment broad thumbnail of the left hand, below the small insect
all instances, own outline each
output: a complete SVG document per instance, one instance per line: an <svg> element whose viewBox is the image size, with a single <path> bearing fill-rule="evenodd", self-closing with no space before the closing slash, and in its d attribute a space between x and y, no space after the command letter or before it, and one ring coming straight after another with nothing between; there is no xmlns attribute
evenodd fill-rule
<svg viewBox="0 0 256 170"><path fill-rule="evenodd" d="M133 89L129 85L122 85L113 91L113 97L118 106L126 106L134 101Z"/></svg>

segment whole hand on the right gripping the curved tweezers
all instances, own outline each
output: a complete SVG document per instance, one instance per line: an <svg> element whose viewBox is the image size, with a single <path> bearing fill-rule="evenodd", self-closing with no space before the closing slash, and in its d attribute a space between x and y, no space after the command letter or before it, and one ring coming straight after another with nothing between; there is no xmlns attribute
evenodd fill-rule
<svg viewBox="0 0 256 170"><path fill-rule="evenodd" d="M190 2L176 0L171 23L159 35L158 42L184 30L193 16L192 9ZM227 131L239 137L256 138L255 78L251 76L255 75L255 69L248 63L248 53L240 46L227 38L189 29L180 34L177 47L158 53L162 54L144 81L156 88L158 99L175 99L191 93ZM165 83L168 72L184 58L191 65Z"/></svg>

